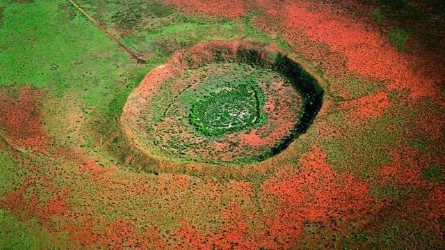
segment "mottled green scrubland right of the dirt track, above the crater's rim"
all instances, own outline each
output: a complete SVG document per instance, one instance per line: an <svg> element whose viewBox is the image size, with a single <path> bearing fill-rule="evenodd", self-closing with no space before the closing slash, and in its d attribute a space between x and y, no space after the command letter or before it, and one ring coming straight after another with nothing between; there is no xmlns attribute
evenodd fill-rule
<svg viewBox="0 0 445 250"><path fill-rule="evenodd" d="M82 0L80 3L125 45L158 58L168 58L178 49L197 42L232 40L243 33L238 20L193 17L159 1Z"/></svg>

